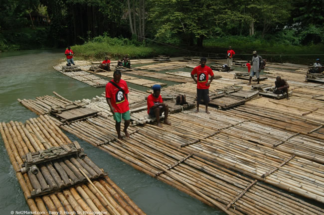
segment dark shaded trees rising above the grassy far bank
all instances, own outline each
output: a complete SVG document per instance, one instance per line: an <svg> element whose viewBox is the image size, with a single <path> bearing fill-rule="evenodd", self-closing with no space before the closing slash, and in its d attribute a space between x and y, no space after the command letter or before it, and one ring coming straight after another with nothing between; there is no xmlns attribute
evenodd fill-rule
<svg viewBox="0 0 324 215"><path fill-rule="evenodd" d="M66 46L99 35L199 46L205 39L250 36L290 45L324 42L323 0L0 0L0 39L50 20L39 42ZM42 40L43 39L43 40ZM1 45L1 42L0 42ZM1 46L0 46L1 47Z"/></svg>

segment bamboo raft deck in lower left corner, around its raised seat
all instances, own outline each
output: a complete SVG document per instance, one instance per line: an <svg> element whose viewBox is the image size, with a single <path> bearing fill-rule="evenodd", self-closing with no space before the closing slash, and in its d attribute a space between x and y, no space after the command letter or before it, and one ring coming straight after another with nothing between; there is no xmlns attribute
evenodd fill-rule
<svg viewBox="0 0 324 215"><path fill-rule="evenodd" d="M46 115L27 120L25 124L13 121L2 122L0 133L30 211L44 214L55 212L60 214L145 214L109 177L102 176L92 180L91 183L84 182L84 179L87 180L86 178L91 175L90 172L97 175L103 174L102 170L88 157L81 159L81 162L70 158L65 159L64 162L52 161L53 165L43 165L39 173L45 178L41 180L42 183L72 184L78 181L79 184L57 190L53 194L32 197L31 193L39 188L33 186L35 176L32 173L19 171L25 160L24 157L27 157L28 153L35 154L37 151L71 144L71 140ZM56 169L59 174L53 171L53 166L62 167L62 169ZM66 176L63 176L63 172ZM62 177L61 180L56 181L55 179L59 177ZM40 189L45 188L45 184Z"/></svg>

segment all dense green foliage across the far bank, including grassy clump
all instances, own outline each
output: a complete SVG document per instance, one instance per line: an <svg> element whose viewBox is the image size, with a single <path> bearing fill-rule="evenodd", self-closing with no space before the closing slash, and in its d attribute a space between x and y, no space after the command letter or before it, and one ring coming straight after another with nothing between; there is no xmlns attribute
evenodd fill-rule
<svg viewBox="0 0 324 215"><path fill-rule="evenodd" d="M203 46L221 50L232 45L247 53L253 49L290 54L323 52L319 48L324 43L323 0L0 0L0 3L0 50L74 44L80 55L89 52L84 57L106 54L148 57L163 52L159 43L153 47L155 40L193 51ZM35 21L44 17L46 23ZM116 37L120 39L111 39ZM174 50L168 46L163 49L168 49L167 53Z"/></svg>

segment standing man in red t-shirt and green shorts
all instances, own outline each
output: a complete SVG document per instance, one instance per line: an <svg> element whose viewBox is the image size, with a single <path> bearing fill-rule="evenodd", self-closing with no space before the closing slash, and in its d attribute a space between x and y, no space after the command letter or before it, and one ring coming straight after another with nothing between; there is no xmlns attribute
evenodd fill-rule
<svg viewBox="0 0 324 215"><path fill-rule="evenodd" d="M108 84L106 85L106 101L116 121L115 127L118 134L118 139L122 139L122 136L120 134L120 124L122 118L125 120L124 132L127 137L130 136L127 132L127 128L130 125L131 121L127 96L129 90L126 82L122 80L121 77L122 73L116 70L114 72L114 79L108 82Z"/></svg>

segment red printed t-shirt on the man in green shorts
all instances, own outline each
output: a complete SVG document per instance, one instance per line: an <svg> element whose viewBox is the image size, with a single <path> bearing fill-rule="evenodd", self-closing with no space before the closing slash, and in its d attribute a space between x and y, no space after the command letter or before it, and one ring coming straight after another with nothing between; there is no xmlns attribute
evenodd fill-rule
<svg viewBox="0 0 324 215"><path fill-rule="evenodd" d="M111 81L114 82L114 80ZM119 83L114 83L123 89L125 94L129 93L127 83L123 79L121 79ZM115 112L124 113L130 109L124 93L109 82L106 85L106 98L110 99L111 105L116 109Z"/></svg>

